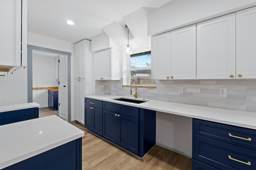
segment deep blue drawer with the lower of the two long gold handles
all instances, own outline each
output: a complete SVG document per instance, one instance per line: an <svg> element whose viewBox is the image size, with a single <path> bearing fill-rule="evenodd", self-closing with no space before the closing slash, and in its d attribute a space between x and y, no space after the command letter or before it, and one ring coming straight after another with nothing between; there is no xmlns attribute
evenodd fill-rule
<svg viewBox="0 0 256 170"><path fill-rule="evenodd" d="M256 170L256 150L195 134L193 134L192 145L192 158L215 168L221 170ZM238 160L251 164L244 164Z"/></svg>

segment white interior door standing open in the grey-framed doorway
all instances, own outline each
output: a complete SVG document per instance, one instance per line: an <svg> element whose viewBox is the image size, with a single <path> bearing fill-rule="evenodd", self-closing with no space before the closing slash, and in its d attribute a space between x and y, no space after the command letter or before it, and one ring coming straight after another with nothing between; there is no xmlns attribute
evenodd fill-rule
<svg viewBox="0 0 256 170"><path fill-rule="evenodd" d="M68 121L68 56L59 56L59 87L58 87L58 102L59 116Z"/></svg>

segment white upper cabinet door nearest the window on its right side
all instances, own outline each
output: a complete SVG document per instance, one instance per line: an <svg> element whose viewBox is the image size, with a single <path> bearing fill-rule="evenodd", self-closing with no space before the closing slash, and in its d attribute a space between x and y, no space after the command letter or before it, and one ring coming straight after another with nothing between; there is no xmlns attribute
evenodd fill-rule
<svg viewBox="0 0 256 170"><path fill-rule="evenodd" d="M156 35L151 39L151 79L170 79L171 33Z"/></svg>

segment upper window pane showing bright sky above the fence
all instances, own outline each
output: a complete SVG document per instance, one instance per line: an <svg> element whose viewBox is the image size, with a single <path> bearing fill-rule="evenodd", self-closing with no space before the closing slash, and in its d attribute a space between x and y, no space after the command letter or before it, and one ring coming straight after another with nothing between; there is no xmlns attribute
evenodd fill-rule
<svg viewBox="0 0 256 170"><path fill-rule="evenodd" d="M148 67L151 66L151 54L145 54L140 56L131 56L130 68Z"/></svg>

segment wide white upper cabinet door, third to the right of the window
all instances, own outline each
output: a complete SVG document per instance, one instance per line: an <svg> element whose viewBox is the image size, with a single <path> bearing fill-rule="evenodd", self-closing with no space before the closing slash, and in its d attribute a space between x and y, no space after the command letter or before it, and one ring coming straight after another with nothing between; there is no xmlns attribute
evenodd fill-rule
<svg viewBox="0 0 256 170"><path fill-rule="evenodd" d="M236 16L197 25L197 78L228 79L236 73ZM233 77L235 78L235 77Z"/></svg>

